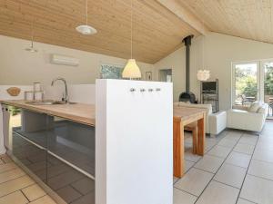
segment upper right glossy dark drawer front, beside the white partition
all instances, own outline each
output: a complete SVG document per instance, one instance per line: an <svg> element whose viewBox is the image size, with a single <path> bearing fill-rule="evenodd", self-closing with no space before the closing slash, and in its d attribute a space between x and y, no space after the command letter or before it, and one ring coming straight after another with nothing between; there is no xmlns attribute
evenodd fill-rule
<svg viewBox="0 0 273 204"><path fill-rule="evenodd" d="M95 177L95 127L49 118L47 150Z"/></svg>

